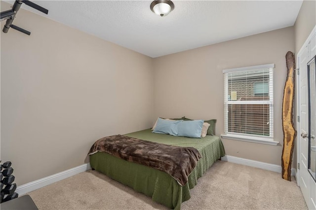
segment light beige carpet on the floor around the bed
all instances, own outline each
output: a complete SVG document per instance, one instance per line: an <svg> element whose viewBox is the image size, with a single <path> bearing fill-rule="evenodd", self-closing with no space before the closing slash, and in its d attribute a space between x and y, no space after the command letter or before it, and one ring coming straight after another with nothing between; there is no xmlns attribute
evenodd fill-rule
<svg viewBox="0 0 316 210"><path fill-rule="evenodd" d="M296 182L275 172L217 161L191 189L183 210L307 210ZM87 171L35 190L29 195L40 210L165 210L96 171Z"/></svg>

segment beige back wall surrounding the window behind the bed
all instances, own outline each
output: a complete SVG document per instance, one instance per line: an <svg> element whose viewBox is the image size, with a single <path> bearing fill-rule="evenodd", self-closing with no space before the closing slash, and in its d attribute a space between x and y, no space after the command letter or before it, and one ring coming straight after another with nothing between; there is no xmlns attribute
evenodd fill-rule
<svg viewBox="0 0 316 210"><path fill-rule="evenodd" d="M274 137L282 144L285 54L294 50L294 27L288 27L156 58L155 117L215 118L218 120L216 134L223 134L222 70L274 63ZM273 146L227 139L223 139L223 143L227 155L281 165L280 144Z"/></svg>

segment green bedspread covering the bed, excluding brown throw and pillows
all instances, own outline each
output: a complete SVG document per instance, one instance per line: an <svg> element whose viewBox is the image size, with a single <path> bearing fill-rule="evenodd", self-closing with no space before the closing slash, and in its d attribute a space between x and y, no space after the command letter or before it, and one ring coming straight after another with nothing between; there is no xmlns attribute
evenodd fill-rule
<svg viewBox="0 0 316 210"><path fill-rule="evenodd" d="M190 189L197 179L218 159L225 155L222 141L217 136L201 139L152 133L151 129L125 134L124 136L181 147L194 147L201 155L196 167L181 186L167 173L144 165L129 162L106 152L90 155L91 168L120 183L143 193L170 209L180 210L181 203L190 199Z"/></svg>

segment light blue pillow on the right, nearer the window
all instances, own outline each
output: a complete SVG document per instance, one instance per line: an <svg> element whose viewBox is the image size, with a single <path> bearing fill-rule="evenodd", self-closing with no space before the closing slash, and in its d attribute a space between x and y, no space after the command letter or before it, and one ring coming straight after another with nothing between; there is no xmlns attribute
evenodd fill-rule
<svg viewBox="0 0 316 210"><path fill-rule="evenodd" d="M178 136L201 138L204 120L182 121L178 124Z"/></svg>

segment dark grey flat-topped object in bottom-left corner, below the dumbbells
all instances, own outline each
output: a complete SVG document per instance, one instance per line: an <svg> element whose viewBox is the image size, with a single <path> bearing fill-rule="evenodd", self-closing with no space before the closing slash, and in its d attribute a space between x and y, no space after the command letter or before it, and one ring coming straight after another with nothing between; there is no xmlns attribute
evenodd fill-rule
<svg viewBox="0 0 316 210"><path fill-rule="evenodd" d="M1 210L39 210L29 195L4 202Z"/></svg>

